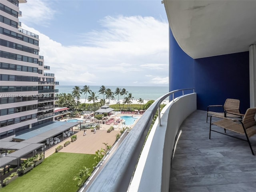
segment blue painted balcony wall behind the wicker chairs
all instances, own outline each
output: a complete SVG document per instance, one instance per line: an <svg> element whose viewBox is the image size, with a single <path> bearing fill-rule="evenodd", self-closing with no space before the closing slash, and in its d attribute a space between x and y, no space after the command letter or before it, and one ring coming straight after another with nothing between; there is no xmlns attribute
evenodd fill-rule
<svg viewBox="0 0 256 192"><path fill-rule="evenodd" d="M249 52L193 59L178 46L170 31L169 90L195 88L197 108L240 100L240 110L250 107Z"/></svg>

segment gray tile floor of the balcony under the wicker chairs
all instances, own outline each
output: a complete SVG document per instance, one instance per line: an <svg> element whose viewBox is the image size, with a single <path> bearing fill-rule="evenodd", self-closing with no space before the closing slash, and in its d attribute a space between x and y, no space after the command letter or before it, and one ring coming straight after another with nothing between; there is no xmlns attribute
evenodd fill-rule
<svg viewBox="0 0 256 192"><path fill-rule="evenodd" d="M170 192L255 192L256 156L248 143L216 132L209 139L209 122L201 110L183 122L172 161ZM256 136L250 141L256 154Z"/></svg>

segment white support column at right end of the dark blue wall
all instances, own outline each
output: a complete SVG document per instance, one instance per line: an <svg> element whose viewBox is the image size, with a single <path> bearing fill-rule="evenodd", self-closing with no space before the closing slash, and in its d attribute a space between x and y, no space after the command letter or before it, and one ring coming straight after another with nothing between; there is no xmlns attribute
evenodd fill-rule
<svg viewBox="0 0 256 192"><path fill-rule="evenodd" d="M250 108L256 107L256 45L249 47Z"/></svg>

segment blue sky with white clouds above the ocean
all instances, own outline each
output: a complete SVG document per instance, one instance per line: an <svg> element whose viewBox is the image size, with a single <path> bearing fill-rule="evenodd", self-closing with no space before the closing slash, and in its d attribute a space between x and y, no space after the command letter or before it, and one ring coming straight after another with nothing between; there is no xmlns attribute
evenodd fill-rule
<svg viewBox="0 0 256 192"><path fill-rule="evenodd" d="M23 29L39 35L45 72L60 85L168 86L161 0L27 0Z"/></svg>

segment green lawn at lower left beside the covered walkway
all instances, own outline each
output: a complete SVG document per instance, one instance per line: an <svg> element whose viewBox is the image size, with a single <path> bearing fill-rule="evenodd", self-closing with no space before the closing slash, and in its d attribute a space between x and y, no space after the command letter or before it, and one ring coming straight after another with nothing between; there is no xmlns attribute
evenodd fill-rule
<svg viewBox="0 0 256 192"><path fill-rule="evenodd" d="M94 164L91 154L54 153L30 172L10 182L1 192L76 192L77 181L73 177Z"/></svg>

